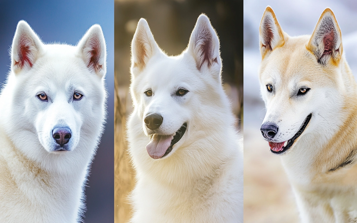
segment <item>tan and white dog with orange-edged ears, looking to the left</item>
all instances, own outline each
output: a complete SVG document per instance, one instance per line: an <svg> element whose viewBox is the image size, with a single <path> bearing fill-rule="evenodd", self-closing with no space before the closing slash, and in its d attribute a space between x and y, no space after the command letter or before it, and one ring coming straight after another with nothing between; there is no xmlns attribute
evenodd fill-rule
<svg viewBox="0 0 357 223"><path fill-rule="evenodd" d="M331 9L312 35L291 37L267 7L260 25L261 126L303 223L357 222L357 85Z"/></svg>

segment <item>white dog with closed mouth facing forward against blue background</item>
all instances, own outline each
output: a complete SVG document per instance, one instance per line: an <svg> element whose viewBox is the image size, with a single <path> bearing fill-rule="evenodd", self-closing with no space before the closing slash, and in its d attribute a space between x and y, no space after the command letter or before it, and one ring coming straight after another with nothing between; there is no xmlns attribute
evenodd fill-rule
<svg viewBox="0 0 357 223"><path fill-rule="evenodd" d="M103 132L106 46L93 25L77 46L44 44L20 21L0 95L0 222L79 222Z"/></svg>

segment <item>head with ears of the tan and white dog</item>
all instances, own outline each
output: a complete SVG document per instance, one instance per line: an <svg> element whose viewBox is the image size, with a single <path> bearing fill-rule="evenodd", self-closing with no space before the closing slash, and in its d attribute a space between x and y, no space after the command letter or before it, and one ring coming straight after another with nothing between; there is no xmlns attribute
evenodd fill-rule
<svg viewBox="0 0 357 223"><path fill-rule="evenodd" d="M332 114L341 107L343 86L353 76L346 74L350 70L333 12L322 13L311 36L291 37L268 6L260 24L260 51L259 79L267 107L261 133L271 151L286 152L301 135L314 132L315 123L337 128Z"/></svg>

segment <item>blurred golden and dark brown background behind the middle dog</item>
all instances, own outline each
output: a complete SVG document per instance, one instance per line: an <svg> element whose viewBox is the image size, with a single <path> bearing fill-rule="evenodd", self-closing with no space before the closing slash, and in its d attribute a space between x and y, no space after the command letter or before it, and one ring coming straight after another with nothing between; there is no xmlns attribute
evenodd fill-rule
<svg viewBox="0 0 357 223"><path fill-rule="evenodd" d="M132 110L130 42L141 17L149 23L157 44L168 55L180 54L187 46L197 17L205 13L221 42L223 87L233 111L243 120L243 1L229 0L115 0L115 222L131 217L127 196L134 188L135 171L130 164L125 123ZM242 130L242 121L237 128Z"/></svg>

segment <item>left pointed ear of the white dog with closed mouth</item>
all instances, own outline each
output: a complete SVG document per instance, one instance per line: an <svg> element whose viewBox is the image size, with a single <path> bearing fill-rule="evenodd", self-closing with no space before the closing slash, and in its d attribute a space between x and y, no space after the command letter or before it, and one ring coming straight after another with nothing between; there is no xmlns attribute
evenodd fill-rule
<svg viewBox="0 0 357 223"><path fill-rule="evenodd" d="M29 70L42 51L42 42L27 22L17 24L11 46L11 70L16 73Z"/></svg>

